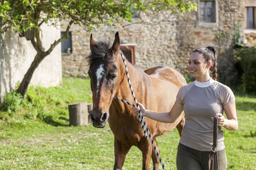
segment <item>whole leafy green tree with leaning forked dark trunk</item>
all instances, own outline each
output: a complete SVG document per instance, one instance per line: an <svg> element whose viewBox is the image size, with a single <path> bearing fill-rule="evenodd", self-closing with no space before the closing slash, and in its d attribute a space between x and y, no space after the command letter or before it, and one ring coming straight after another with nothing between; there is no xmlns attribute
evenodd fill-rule
<svg viewBox="0 0 256 170"><path fill-rule="evenodd" d="M116 19L131 21L136 11L160 11L171 9L184 12L196 10L197 5L189 0L0 0L0 34L12 29L17 34L26 35L31 41L36 56L25 73L17 92L25 96L32 75L54 47L68 38L73 24L92 29L94 25L114 23ZM134 10L136 9L136 10ZM43 23L56 25L57 21L69 21L65 36L55 40L49 49L42 45L40 27Z"/></svg>

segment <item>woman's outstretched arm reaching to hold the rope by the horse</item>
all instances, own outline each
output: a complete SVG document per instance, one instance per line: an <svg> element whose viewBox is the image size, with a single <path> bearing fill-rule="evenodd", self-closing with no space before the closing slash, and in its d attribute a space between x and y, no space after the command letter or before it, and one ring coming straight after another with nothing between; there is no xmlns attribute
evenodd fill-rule
<svg viewBox="0 0 256 170"><path fill-rule="evenodd" d="M180 114L183 111L182 105L178 104L177 101L175 101L173 108L171 108L170 112L154 112L151 110L146 110L145 107L139 103L140 110L145 117L149 117L150 119L153 119L155 121L161 121L164 123L173 123L175 122L178 117L180 117ZM134 108L136 112L138 112L138 108Z"/></svg>

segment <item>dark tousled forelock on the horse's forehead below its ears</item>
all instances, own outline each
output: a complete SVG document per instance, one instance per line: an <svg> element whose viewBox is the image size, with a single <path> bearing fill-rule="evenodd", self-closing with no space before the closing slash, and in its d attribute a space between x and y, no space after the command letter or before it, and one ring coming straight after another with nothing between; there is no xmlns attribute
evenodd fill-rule
<svg viewBox="0 0 256 170"><path fill-rule="evenodd" d="M92 49L91 54L87 57L89 65L98 60L111 60L111 50L109 50L109 42L98 41Z"/></svg>

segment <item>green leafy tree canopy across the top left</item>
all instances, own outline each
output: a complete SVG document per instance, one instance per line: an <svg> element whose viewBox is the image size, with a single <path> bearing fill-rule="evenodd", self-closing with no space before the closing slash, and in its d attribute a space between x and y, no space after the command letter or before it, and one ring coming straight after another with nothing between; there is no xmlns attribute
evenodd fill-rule
<svg viewBox="0 0 256 170"><path fill-rule="evenodd" d="M131 21L136 10L185 12L196 8L195 3L180 0L8 0L0 3L1 32L10 27L17 32L25 32L53 19L74 21L92 28L100 23L113 23L117 18Z"/></svg>

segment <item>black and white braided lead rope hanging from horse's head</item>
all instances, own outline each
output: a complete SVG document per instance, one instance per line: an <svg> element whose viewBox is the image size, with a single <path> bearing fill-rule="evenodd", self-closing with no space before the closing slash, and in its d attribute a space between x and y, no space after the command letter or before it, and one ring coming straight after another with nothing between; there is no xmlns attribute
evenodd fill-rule
<svg viewBox="0 0 256 170"><path fill-rule="evenodd" d="M155 143L153 143L153 138L152 138L152 136L151 136L151 134L150 134L150 132L149 132L149 128L147 127L147 123L146 123L145 119L143 118L142 112L141 112L141 110L140 110L140 106L138 106L138 101L137 101L137 99L136 99L136 97L135 97L135 95L134 95L134 90L133 90L133 88L132 88L132 86L131 86L131 81L130 81L130 77L129 77L129 73L128 73L128 67L127 67L127 64L126 64L126 62L125 62L124 56L122 56L122 52L121 52L121 57L122 57L122 61L123 61L124 64L125 64L125 71L126 71L126 75L127 75L127 80L128 80L128 83L129 83L129 87L130 87L130 89L131 89L131 95L134 97L135 104L136 104L136 106L137 106L137 108L138 108L138 110L139 110L139 112L138 112L138 117L139 117L139 120L140 120L140 125L141 125L141 127L142 127L142 130L143 130L144 135L145 135L145 137L147 138L147 140L149 140L149 138L150 138L150 141L151 141L151 143L152 143L152 145L153 145L153 149L155 150L156 155L158 156L158 159L159 159L159 161L160 161L160 164L162 165L162 169L166 170L165 167L164 167L164 163L163 163L162 160L161 160L160 154L158 153L158 150L156 149L156 145L155 145ZM120 100L120 101L122 101L122 102L125 103L125 104L129 104L129 105L135 107L135 105L129 103L129 101L125 101L124 99L120 99L119 97L115 97L115 98L118 99L118 100ZM149 138L147 137L147 134L149 135Z"/></svg>

